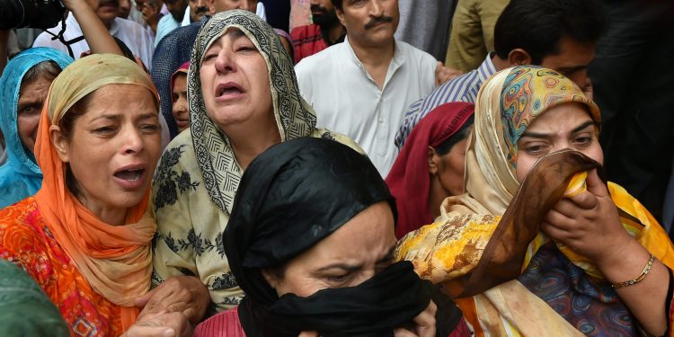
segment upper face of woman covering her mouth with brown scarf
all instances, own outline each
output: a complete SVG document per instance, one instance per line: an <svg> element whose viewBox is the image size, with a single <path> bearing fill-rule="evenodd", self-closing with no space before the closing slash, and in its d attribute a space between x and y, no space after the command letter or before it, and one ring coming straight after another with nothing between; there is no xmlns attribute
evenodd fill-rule
<svg viewBox="0 0 674 337"><path fill-rule="evenodd" d="M581 103L557 105L538 116L518 141L517 178L524 180L544 155L571 148L604 163L597 128Z"/></svg>

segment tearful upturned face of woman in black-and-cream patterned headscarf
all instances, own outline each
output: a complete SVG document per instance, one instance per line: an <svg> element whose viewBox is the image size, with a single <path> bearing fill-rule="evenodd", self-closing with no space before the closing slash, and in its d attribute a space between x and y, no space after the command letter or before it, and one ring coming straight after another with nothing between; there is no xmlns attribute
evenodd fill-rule
<svg viewBox="0 0 674 337"><path fill-rule="evenodd" d="M274 119L267 63L244 32L230 30L213 42L200 78L206 111L220 129Z"/></svg>

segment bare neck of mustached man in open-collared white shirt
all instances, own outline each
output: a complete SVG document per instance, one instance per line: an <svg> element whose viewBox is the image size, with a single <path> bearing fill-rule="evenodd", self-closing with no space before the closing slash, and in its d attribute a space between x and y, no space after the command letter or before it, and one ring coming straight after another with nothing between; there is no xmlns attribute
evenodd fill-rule
<svg viewBox="0 0 674 337"><path fill-rule="evenodd" d="M383 88L388 66L394 57L395 40L391 38L387 43L377 46L361 45L354 40L349 40L349 44L368 74L372 76L379 88Z"/></svg>

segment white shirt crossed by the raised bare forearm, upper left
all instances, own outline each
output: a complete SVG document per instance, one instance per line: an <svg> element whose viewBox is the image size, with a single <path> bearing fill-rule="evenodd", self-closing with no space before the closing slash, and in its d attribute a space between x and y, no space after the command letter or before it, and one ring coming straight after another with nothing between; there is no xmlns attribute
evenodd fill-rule
<svg viewBox="0 0 674 337"><path fill-rule="evenodd" d="M51 31L54 34L57 34L58 31L61 31L61 22L58 22L58 25L54 28L50 28L48 31ZM115 18L111 23L110 33L117 39L120 39L124 44L129 47L129 50L133 55L140 58L143 61L143 64L147 68L150 68L152 65L152 52L153 44L152 37L146 31L146 29L138 24L137 22L132 22L126 19ZM82 29L80 25L75 20L73 13L68 13L66 19L66 32L63 34L65 40L73 40L82 36ZM51 49L58 49L67 54L68 49L65 44L60 40L51 40L52 36L49 35L47 31L40 33L35 42L33 42L33 47L47 47ZM74 58L80 58L82 53L89 51L89 44L86 43L86 40L80 40L70 46L73 49Z"/></svg>

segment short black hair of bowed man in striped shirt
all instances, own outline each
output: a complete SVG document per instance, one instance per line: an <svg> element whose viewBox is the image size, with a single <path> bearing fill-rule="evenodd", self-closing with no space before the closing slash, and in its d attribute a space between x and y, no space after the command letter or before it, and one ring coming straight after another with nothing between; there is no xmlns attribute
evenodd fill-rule
<svg viewBox="0 0 674 337"><path fill-rule="evenodd" d="M608 16L599 0L512 0L494 27L494 49L507 59L512 49L524 49L534 65L559 53L559 42L596 43Z"/></svg>

